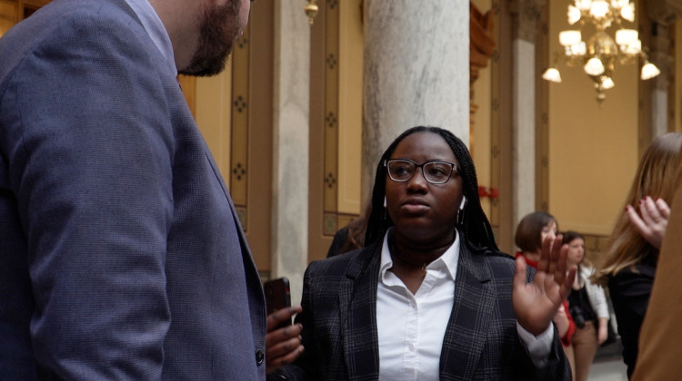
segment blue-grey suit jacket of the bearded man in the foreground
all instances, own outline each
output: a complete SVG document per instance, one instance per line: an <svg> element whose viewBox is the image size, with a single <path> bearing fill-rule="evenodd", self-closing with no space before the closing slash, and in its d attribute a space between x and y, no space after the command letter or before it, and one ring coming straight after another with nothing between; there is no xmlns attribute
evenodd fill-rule
<svg viewBox="0 0 682 381"><path fill-rule="evenodd" d="M0 379L265 379L256 266L132 10L55 0L0 57Z"/></svg>

